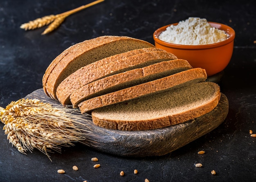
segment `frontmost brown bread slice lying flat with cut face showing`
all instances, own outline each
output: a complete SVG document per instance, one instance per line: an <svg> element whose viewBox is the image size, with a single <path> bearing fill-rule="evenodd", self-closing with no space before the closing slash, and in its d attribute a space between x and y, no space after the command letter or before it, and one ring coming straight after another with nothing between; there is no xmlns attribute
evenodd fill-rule
<svg viewBox="0 0 256 182"><path fill-rule="evenodd" d="M108 129L157 129L207 114L218 105L219 100L220 88L216 83L194 83L94 110L92 121L95 125Z"/></svg>

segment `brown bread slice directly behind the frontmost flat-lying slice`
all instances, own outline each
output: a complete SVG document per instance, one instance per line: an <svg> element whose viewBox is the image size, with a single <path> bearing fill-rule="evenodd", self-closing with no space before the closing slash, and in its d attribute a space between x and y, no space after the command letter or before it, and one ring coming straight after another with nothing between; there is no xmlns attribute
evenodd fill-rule
<svg viewBox="0 0 256 182"><path fill-rule="evenodd" d="M204 69L193 68L168 77L85 100L79 103L78 107L81 113L90 112L100 107L138 99L140 97L191 85L192 83L205 81L206 78L207 74Z"/></svg>

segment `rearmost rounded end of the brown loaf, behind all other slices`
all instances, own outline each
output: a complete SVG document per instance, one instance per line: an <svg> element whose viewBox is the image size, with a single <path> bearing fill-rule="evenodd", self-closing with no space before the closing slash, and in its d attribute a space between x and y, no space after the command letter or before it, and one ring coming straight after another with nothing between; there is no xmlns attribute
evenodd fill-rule
<svg viewBox="0 0 256 182"><path fill-rule="evenodd" d="M155 46L125 36L101 36L75 44L56 57L47 68L43 76L45 93L57 99L56 89L59 83L79 68L105 57L149 47Z"/></svg>

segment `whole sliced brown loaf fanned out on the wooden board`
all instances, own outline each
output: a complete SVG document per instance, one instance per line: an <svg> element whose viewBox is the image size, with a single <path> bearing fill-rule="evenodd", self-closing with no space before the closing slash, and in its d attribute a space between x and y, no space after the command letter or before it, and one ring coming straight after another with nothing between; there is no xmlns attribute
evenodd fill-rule
<svg viewBox="0 0 256 182"><path fill-rule="evenodd" d="M202 68L148 42L103 36L75 44L43 77L45 93L91 112L95 125L120 130L166 127L202 116L220 99Z"/></svg>

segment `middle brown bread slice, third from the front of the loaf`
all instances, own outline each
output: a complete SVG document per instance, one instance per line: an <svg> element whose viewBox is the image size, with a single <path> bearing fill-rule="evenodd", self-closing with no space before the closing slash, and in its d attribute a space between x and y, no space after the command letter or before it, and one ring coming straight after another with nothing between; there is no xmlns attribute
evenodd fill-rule
<svg viewBox="0 0 256 182"><path fill-rule="evenodd" d="M144 68L129 70L86 84L70 95L70 101L73 107L77 108L80 102L87 99L167 77L191 68L188 61L184 59L162 61Z"/></svg>

